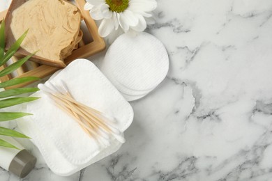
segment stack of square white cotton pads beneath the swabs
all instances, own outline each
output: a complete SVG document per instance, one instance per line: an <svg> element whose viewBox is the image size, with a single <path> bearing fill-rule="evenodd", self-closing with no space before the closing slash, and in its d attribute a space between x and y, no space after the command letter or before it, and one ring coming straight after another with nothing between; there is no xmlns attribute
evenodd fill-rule
<svg viewBox="0 0 272 181"><path fill-rule="evenodd" d="M80 59L55 74L45 86L63 81L70 94L82 104L114 118L114 126L124 132L132 123L133 109L119 91L90 61ZM17 122L38 147L50 169L58 175L71 175L80 169L116 152L122 143L109 136L109 145L98 143L65 111L56 107L43 91L41 97L24 107L33 116ZM32 120L29 120L32 119Z"/></svg>

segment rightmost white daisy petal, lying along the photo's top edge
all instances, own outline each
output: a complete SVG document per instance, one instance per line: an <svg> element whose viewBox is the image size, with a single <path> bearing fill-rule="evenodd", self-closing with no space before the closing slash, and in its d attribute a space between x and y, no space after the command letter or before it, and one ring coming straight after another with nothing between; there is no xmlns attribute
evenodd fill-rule
<svg viewBox="0 0 272 181"><path fill-rule="evenodd" d="M133 12L150 12L157 8L156 0L130 0L128 10Z"/></svg>

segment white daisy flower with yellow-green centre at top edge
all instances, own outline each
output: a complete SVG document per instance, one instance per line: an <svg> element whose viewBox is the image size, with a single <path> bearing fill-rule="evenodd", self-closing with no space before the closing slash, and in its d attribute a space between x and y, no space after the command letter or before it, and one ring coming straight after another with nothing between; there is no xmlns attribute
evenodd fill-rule
<svg viewBox="0 0 272 181"><path fill-rule="evenodd" d="M102 20L98 33L106 37L114 29L144 31L146 23L153 23L151 11L157 8L156 0L86 0L84 9L90 10L91 17Z"/></svg>

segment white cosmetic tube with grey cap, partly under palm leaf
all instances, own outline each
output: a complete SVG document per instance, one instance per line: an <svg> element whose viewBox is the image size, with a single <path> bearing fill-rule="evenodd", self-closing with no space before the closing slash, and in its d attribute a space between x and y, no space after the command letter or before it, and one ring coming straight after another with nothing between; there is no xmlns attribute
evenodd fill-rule
<svg viewBox="0 0 272 181"><path fill-rule="evenodd" d="M0 139L8 141L20 149L0 146L0 166L20 178L27 176L36 164L36 157L33 157L15 139L6 136L0 136Z"/></svg>

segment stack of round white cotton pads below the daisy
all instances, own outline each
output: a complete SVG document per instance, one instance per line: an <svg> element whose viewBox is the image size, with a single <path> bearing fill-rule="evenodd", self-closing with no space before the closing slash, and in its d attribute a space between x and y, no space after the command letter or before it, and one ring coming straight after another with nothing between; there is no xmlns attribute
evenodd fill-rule
<svg viewBox="0 0 272 181"><path fill-rule="evenodd" d="M100 70L128 101L150 93L169 68L169 58L162 42L149 33L123 34L107 50Z"/></svg>

